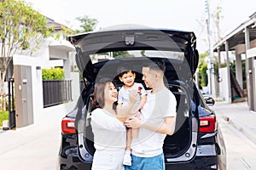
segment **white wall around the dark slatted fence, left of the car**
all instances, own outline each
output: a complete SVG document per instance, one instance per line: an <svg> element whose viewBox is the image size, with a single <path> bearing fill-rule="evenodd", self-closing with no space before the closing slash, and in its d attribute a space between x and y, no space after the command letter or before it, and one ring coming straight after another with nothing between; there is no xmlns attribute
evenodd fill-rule
<svg viewBox="0 0 256 170"><path fill-rule="evenodd" d="M49 119L50 116L65 116L68 112L73 111L80 95L79 72L70 73L72 79L73 101L68 102L67 104L44 108L42 70L37 70L37 66L42 65L42 60L24 55L14 55L13 59L14 65L32 66L32 105L34 123L40 123L43 119Z"/></svg>

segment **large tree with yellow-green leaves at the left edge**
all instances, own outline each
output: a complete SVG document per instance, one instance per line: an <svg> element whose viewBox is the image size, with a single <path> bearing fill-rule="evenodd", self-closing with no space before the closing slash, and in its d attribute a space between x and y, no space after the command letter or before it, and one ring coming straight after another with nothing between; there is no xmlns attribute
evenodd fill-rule
<svg viewBox="0 0 256 170"><path fill-rule="evenodd" d="M44 38L52 35L47 19L24 1L0 1L0 93L13 54L31 53Z"/></svg>

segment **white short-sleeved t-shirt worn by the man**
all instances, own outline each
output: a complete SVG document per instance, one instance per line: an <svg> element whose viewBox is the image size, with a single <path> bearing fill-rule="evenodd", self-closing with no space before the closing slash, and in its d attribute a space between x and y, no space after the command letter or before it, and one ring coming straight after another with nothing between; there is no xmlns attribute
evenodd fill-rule
<svg viewBox="0 0 256 170"><path fill-rule="evenodd" d="M172 92L163 88L155 94L148 93L147 102L141 109L144 122L159 124L165 122L165 117L176 116L177 101ZM160 155L166 134L156 133L140 127L138 138L132 139L131 149L134 156L152 157Z"/></svg>

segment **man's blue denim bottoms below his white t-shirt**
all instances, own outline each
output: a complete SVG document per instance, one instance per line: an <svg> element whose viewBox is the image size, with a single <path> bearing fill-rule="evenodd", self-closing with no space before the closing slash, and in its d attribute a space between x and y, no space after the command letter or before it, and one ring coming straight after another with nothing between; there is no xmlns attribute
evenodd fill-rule
<svg viewBox="0 0 256 170"><path fill-rule="evenodd" d="M131 166L125 166L125 170L165 170L164 154L154 157L131 155Z"/></svg>

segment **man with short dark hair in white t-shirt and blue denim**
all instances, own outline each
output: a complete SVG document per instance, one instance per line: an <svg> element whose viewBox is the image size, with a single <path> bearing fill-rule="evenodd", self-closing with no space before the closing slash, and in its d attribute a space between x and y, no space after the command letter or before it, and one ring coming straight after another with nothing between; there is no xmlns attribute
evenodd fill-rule
<svg viewBox="0 0 256 170"><path fill-rule="evenodd" d="M143 120L131 117L127 127L139 128L138 138L131 144L131 166L126 170L165 169L163 143L166 134L174 133L176 122L176 98L164 83L165 63L154 59L143 66L143 81L151 88L147 102L141 110Z"/></svg>

